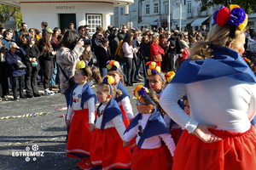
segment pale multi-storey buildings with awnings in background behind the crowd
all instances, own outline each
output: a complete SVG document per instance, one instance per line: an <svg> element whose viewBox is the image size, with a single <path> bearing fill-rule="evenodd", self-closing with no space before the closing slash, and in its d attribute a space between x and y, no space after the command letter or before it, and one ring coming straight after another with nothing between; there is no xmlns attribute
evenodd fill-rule
<svg viewBox="0 0 256 170"><path fill-rule="evenodd" d="M170 6L169 6L170 5ZM114 8L111 17L113 26L126 25L134 28L158 28L185 30L209 30L212 27L212 16L221 5L200 11L200 2L195 0L134 0L129 6L129 14L125 7ZM170 12L169 12L170 11ZM248 28L256 28L256 14L249 14Z"/></svg>

